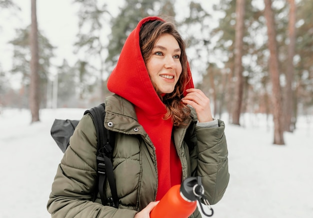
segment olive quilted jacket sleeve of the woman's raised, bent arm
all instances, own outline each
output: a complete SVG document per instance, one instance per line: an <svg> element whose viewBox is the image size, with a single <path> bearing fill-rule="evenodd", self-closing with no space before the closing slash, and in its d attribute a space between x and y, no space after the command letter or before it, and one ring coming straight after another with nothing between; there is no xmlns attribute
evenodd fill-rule
<svg viewBox="0 0 313 218"><path fill-rule="evenodd" d="M229 181L224 127L224 122L218 120L218 127L195 126L194 130L196 149L190 153L192 174L201 176L210 204L222 198Z"/></svg>

